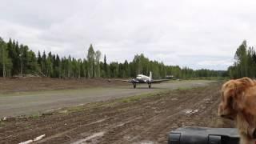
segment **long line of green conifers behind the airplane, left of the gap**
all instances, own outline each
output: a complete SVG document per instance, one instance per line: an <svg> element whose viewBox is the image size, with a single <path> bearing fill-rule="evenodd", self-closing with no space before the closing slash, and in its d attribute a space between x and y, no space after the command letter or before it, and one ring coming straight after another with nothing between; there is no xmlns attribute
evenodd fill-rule
<svg viewBox="0 0 256 144"><path fill-rule="evenodd" d="M106 62L99 50L94 51L92 45L87 50L86 58L60 57L45 51L35 54L28 46L19 45L12 39L5 42L0 38L0 77L22 76L34 74L50 78L130 78L137 74L154 78L198 78L220 77L223 71L192 70L188 67L166 66L163 62L152 61L144 54L136 54L131 62Z"/></svg>

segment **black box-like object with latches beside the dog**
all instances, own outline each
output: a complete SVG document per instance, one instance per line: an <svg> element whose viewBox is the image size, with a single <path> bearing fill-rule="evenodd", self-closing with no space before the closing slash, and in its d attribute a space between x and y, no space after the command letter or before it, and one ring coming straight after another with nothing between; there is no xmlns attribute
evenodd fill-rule
<svg viewBox="0 0 256 144"><path fill-rule="evenodd" d="M171 131L168 144L238 144L234 128L182 127Z"/></svg>

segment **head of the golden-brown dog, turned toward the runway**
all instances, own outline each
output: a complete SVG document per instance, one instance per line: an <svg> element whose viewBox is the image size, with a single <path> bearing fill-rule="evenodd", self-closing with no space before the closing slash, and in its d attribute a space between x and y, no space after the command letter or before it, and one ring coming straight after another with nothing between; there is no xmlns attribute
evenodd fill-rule
<svg viewBox="0 0 256 144"><path fill-rule="evenodd" d="M218 115L234 120L238 110L242 110L244 106L244 91L250 86L254 86L254 81L250 78L240 78L224 83L221 90L222 100L218 106Z"/></svg>

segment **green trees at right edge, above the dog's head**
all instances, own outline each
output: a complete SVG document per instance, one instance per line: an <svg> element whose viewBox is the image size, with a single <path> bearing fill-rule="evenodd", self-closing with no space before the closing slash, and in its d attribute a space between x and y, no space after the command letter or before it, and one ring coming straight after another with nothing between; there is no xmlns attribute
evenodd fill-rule
<svg viewBox="0 0 256 144"><path fill-rule="evenodd" d="M230 78L256 77L256 51L243 41L234 54L234 64L228 68Z"/></svg>

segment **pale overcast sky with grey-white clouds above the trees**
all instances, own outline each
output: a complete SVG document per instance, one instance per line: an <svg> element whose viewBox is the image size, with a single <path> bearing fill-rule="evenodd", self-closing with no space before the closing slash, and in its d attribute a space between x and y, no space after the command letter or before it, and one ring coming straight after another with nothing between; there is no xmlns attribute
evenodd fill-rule
<svg viewBox="0 0 256 144"><path fill-rule="evenodd" d="M244 39L256 42L256 1L0 0L0 37L36 51L108 62L134 54L167 65L226 70Z"/></svg>

